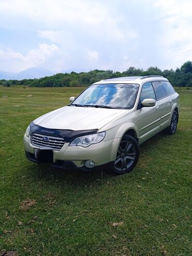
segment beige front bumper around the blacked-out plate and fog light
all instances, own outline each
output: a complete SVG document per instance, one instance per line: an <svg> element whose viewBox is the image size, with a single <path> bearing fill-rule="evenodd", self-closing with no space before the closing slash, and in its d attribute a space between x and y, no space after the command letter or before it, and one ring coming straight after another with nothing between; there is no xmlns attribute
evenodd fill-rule
<svg viewBox="0 0 192 256"><path fill-rule="evenodd" d="M44 148L33 145L31 143L30 136L24 136L23 142L26 157L34 163L40 163L40 161L35 158L34 149L44 150ZM114 165L116 149L118 148L118 139L101 141L88 147L68 145L69 143L65 143L59 151L52 150L53 161L50 163L52 167L62 169L81 169L86 171L104 169ZM85 160L93 160L95 167L87 168L85 166Z"/></svg>

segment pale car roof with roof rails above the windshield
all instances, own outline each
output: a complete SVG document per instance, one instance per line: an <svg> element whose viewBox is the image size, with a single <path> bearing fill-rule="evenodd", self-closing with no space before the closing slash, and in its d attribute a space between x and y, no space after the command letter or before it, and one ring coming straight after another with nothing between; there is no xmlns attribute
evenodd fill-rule
<svg viewBox="0 0 192 256"><path fill-rule="evenodd" d="M144 84L146 82L153 82L153 81L161 81L166 80L167 78L160 76L160 75L150 75L150 76L119 76L119 77L107 77L103 80L94 83L94 84Z"/></svg>

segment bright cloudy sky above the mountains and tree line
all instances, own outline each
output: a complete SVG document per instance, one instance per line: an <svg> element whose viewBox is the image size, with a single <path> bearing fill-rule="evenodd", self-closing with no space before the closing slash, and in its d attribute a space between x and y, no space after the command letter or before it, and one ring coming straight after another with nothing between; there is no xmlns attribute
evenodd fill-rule
<svg viewBox="0 0 192 256"><path fill-rule="evenodd" d="M0 71L175 69L192 60L192 0L0 0Z"/></svg>

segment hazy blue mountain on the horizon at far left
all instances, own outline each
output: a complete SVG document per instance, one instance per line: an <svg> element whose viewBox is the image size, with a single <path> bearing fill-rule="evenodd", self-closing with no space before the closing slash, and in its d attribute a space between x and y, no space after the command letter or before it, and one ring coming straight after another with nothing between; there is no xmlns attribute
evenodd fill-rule
<svg viewBox="0 0 192 256"><path fill-rule="evenodd" d="M11 72L4 72L0 71L0 79L17 79L17 80L22 80L22 79L33 79L33 78L40 78L44 76L51 76L54 75L53 72L46 68L30 68L23 70L19 73L11 73Z"/></svg>

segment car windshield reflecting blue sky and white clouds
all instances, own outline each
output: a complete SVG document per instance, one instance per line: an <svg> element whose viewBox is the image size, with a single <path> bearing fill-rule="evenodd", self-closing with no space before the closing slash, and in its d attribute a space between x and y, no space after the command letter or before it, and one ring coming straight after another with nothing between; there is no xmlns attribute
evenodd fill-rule
<svg viewBox="0 0 192 256"><path fill-rule="evenodd" d="M132 109L138 88L136 84L91 85L71 105Z"/></svg>

